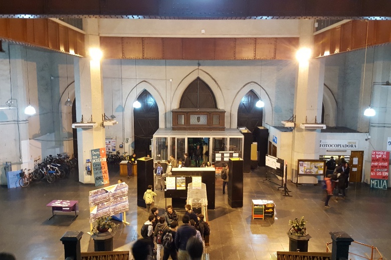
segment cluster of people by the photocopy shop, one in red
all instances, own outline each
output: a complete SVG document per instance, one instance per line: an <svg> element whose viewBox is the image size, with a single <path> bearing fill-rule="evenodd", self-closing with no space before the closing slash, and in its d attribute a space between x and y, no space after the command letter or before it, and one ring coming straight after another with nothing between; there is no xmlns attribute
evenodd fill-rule
<svg viewBox="0 0 391 260"><path fill-rule="evenodd" d="M324 189L326 190L326 200L324 206L330 208L328 204L330 198L335 190L334 201L338 202L338 196L341 195L345 198L345 189L349 186L349 164L345 160L336 162L334 157L331 156L326 162L326 176L324 177Z"/></svg>

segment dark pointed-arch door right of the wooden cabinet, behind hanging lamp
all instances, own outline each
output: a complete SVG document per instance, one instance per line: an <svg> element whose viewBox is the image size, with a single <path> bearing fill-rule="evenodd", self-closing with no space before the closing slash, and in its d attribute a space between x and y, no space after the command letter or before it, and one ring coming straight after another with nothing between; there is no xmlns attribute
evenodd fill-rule
<svg viewBox="0 0 391 260"><path fill-rule="evenodd" d="M238 108L238 126L246 126L252 132L255 127L262 126L263 109L255 105L258 100L253 90L243 96Z"/></svg>

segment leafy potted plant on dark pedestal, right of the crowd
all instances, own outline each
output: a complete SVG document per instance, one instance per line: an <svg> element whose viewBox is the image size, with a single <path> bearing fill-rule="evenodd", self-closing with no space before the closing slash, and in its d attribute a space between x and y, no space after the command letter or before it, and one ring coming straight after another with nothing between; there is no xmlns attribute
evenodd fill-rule
<svg viewBox="0 0 391 260"><path fill-rule="evenodd" d="M289 251L308 252L308 241L311 236L307 233L306 222L304 216L289 220Z"/></svg>

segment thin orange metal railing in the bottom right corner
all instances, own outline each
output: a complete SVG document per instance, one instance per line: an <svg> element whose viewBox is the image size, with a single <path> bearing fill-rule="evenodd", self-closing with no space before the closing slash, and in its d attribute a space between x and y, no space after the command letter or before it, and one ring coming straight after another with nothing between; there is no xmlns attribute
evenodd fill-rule
<svg viewBox="0 0 391 260"><path fill-rule="evenodd" d="M331 252L331 249L328 246L329 244L332 244L332 242L326 243L326 252ZM353 241L349 246L349 260L362 259L382 260L383 256L376 246Z"/></svg>

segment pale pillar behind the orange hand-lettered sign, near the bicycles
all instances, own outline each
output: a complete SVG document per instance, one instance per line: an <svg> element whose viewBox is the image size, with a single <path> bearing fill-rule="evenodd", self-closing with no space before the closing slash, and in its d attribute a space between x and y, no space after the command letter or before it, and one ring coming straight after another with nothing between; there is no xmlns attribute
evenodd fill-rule
<svg viewBox="0 0 391 260"><path fill-rule="evenodd" d="M86 53L90 47L99 47L98 19L84 19ZM79 181L95 183L92 175L87 175L86 159L91 159L91 149L105 147L105 129L102 125L104 99L100 61L88 58L75 58L76 120L83 116L84 121L94 121L97 127L77 129Z"/></svg>

